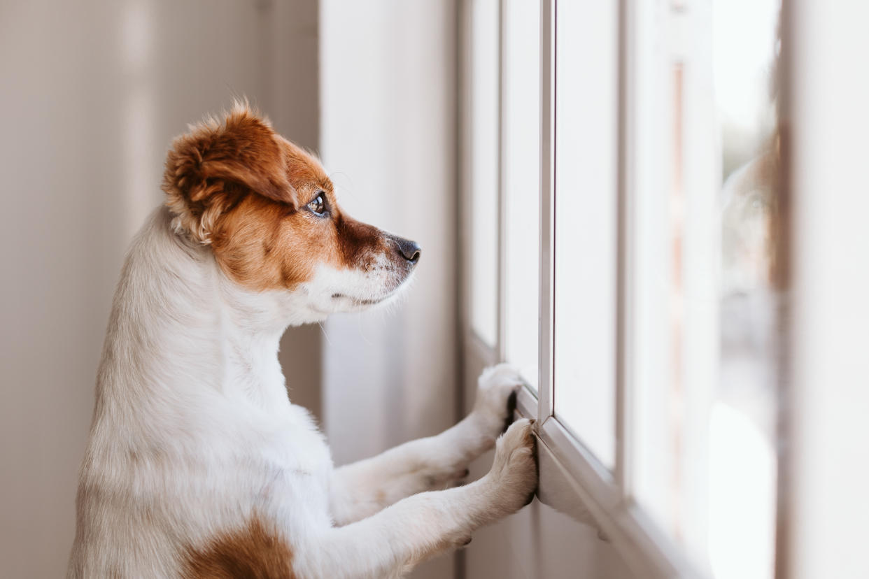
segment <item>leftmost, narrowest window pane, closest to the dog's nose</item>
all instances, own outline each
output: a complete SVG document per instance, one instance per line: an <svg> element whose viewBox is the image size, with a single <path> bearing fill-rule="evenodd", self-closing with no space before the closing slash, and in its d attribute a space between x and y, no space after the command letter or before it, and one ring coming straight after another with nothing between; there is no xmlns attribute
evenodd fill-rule
<svg viewBox="0 0 869 579"><path fill-rule="evenodd" d="M471 327L488 345L498 333L498 2L471 13Z"/></svg>

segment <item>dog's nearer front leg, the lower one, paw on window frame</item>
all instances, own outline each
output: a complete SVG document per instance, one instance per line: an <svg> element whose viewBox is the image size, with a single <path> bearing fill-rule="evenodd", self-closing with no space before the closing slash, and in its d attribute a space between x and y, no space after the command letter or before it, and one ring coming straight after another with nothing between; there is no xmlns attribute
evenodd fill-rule
<svg viewBox="0 0 869 579"><path fill-rule="evenodd" d="M402 499L357 523L312 537L294 557L300 579L400 577L416 563L467 544L482 525L530 502L537 485L533 422L498 439L494 464L466 486Z"/></svg>

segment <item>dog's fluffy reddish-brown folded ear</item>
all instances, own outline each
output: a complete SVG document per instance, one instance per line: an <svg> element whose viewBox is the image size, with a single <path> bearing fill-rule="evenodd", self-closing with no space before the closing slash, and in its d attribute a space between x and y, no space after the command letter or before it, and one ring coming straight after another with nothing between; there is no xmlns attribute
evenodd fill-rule
<svg viewBox="0 0 869 579"><path fill-rule="evenodd" d="M224 122L209 118L172 142L163 191L176 228L209 243L217 218L241 195L297 208L287 170L286 152L269 122L236 103Z"/></svg>

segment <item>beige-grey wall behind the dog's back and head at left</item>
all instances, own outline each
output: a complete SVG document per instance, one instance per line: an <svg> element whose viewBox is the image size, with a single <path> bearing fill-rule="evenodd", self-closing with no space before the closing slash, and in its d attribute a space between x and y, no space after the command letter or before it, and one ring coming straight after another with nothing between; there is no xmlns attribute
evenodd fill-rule
<svg viewBox="0 0 869 579"><path fill-rule="evenodd" d="M317 16L315 0L0 3L3 576L65 573L110 301L169 141L248 95L318 148ZM320 336L282 348L315 406Z"/></svg>

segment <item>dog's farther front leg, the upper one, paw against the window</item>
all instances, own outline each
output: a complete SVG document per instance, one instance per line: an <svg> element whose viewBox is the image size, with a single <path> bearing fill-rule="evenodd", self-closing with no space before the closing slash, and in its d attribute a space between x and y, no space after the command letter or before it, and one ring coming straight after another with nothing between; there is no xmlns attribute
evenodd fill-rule
<svg viewBox="0 0 869 579"><path fill-rule="evenodd" d="M404 497L466 477L468 464L492 448L512 418L507 402L520 384L512 366L488 368L480 376L474 410L459 424L336 469L330 490L335 523L358 521Z"/></svg>

